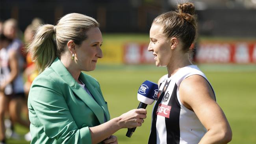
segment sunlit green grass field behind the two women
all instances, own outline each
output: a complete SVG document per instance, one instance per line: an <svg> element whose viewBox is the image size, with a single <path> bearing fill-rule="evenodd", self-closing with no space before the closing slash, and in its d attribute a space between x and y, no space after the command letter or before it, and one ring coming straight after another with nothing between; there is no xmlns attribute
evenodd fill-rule
<svg viewBox="0 0 256 144"><path fill-rule="evenodd" d="M200 65L217 95L233 131L230 144L256 143L256 66L215 66ZM215 68L216 67L216 68ZM108 102L111 118L134 109L138 105L137 90L143 81L157 82L166 74L165 68L152 65L143 66L98 66L95 71L87 72L101 85L105 100ZM119 144L146 144L150 132L152 105L147 107L147 119L138 127L132 138L125 136L127 129L114 135ZM19 133L28 130L16 126ZM8 144L27 144L24 140L8 140Z"/></svg>

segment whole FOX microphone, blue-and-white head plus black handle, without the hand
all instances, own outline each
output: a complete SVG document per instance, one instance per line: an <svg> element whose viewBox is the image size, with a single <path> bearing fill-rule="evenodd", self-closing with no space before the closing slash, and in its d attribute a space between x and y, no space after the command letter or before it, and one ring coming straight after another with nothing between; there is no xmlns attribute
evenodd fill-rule
<svg viewBox="0 0 256 144"><path fill-rule="evenodd" d="M139 87L137 93L137 99L140 102L137 109L146 109L147 105L151 105L158 95L158 85L151 81L144 81ZM129 129L126 133L127 137L132 137L132 133L134 133L136 127Z"/></svg>

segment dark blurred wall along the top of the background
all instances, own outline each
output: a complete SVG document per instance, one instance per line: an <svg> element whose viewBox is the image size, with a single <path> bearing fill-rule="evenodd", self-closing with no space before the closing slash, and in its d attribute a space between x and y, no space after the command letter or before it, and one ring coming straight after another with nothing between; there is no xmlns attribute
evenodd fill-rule
<svg viewBox="0 0 256 144"><path fill-rule="evenodd" d="M76 12L98 20L103 32L148 33L152 20L169 10L168 0L0 0L0 19L16 18L22 31L35 17L56 24ZM197 13L201 35L256 37L255 9L215 6Z"/></svg>

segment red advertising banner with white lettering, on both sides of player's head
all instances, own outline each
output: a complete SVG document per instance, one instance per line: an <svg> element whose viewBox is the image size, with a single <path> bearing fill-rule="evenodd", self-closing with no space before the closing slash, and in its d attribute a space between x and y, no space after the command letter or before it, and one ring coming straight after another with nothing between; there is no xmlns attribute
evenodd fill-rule
<svg viewBox="0 0 256 144"><path fill-rule="evenodd" d="M154 63L148 44L127 43L123 62L126 64ZM201 42L196 49L197 63L256 63L256 42Z"/></svg>

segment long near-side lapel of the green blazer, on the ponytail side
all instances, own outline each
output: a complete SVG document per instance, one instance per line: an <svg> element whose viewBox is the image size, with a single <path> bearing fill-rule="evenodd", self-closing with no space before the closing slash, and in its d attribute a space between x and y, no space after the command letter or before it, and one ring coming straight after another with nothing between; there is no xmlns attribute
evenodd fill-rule
<svg viewBox="0 0 256 144"><path fill-rule="evenodd" d="M69 85L72 91L78 96L98 118L100 124L104 123L103 110L98 105L98 103L93 100L89 94L76 82L76 80L71 76L67 68L61 63L57 57L52 63L51 67L56 71L56 73ZM90 91L91 92L91 91ZM93 93L92 93L93 94Z"/></svg>

